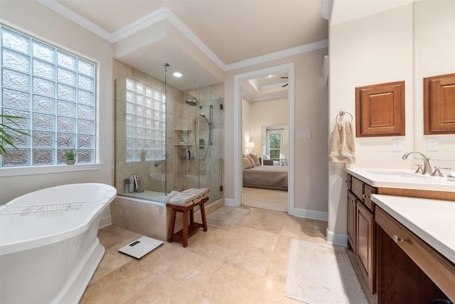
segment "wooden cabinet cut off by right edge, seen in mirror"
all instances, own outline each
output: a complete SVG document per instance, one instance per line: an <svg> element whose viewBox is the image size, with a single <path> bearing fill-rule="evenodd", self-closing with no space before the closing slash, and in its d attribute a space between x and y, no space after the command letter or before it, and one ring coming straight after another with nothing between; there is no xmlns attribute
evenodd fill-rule
<svg viewBox="0 0 455 304"><path fill-rule="evenodd" d="M424 134L455 134L455 74L424 78Z"/></svg>

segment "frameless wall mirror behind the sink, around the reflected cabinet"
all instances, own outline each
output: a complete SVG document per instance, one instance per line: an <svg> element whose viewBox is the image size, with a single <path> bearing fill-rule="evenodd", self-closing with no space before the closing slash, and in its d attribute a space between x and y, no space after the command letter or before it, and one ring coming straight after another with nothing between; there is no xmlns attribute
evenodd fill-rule
<svg viewBox="0 0 455 304"><path fill-rule="evenodd" d="M414 2L414 150L432 159L455 161L455 135L424 136L423 79L455 72L455 1ZM437 142L438 151L427 148Z"/></svg>

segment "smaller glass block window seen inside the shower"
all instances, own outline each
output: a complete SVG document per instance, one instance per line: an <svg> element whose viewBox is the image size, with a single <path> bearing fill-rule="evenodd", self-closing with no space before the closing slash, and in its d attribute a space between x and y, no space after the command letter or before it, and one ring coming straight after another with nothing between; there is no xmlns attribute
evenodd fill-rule
<svg viewBox="0 0 455 304"><path fill-rule="evenodd" d="M127 162L157 161L166 153L164 92L127 77Z"/></svg>

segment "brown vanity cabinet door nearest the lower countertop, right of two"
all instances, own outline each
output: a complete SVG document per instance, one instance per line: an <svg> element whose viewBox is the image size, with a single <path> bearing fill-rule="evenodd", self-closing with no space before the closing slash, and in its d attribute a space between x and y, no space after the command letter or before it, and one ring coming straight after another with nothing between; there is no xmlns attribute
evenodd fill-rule
<svg viewBox="0 0 455 304"><path fill-rule="evenodd" d="M375 293L375 218L360 202L357 204L356 215L357 259L371 293Z"/></svg>

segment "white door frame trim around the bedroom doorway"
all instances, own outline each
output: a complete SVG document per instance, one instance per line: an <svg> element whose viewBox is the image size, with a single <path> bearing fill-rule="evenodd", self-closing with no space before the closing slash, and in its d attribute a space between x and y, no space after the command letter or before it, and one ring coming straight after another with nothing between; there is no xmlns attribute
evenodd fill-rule
<svg viewBox="0 0 455 304"><path fill-rule="evenodd" d="M245 123L242 115L242 83L250 82L254 83L254 80L258 78L267 77L269 75L287 75L280 76L283 77L283 85L286 85L288 90L288 110L285 115L287 115L287 138L289 139L288 151L286 158L283 159L283 164L288 165L288 192L287 192L287 213L289 215L294 215L294 63L288 63L285 65L278 65L275 67L269 67L262 70L247 72L240 75L234 76L234 134L237 134L237 141L234 142L235 156L234 156L234 180L235 180L235 205L240 206L242 203L242 192L243 192L243 181L242 181L242 153L245 153L245 148L250 148L251 145L250 139L247 139L245 136L245 128L248 128L247 123ZM247 134L247 133L246 133ZM251 134L250 134L251 135ZM262 136L259 139L252 137L252 142L254 146L262 148ZM282 164L282 160L278 159L279 164Z"/></svg>

